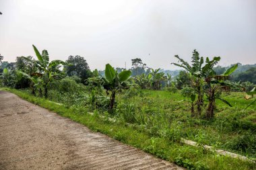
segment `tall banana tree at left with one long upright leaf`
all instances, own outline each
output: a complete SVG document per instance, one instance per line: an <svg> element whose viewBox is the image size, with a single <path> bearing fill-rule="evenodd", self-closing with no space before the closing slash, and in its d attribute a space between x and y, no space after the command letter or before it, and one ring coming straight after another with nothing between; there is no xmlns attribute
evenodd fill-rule
<svg viewBox="0 0 256 170"><path fill-rule="evenodd" d="M42 54L40 54L36 46L32 46L38 60L32 60L30 58L26 58L26 60L34 62L34 64L38 68L38 72L32 73L32 76L36 75L36 77L40 77L40 79L42 79L42 85L44 87L44 97L48 97L49 83L53 81L53 79L63 77L63 73L61 73L59 68L61 67L61 65L66 65L66 63L62 60L52 60L50 62L47 50L42 50Z"/></svg>

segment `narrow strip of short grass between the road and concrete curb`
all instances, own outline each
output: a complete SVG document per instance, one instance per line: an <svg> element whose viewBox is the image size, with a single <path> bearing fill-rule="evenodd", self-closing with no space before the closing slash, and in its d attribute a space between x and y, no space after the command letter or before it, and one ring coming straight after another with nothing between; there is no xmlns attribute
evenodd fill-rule
<svg viewBox="0 0 256 170"><path fill-rule="evenodd" d="M137 128L137 126L128 126L124 122L110 122L99 116L97 111L93 115L88 114L88 108L83 106L68 108L40 97L34 97L25 91L8 88L1 88L0 90L15 93L22 99L40 105L42 108L70 118L79 124L84 124L94 132L101 132L187 169L256 169L255 163L216 155L216 153L206 151L203 147L188 146L177 140L152 136L146 130Z"/></svg>

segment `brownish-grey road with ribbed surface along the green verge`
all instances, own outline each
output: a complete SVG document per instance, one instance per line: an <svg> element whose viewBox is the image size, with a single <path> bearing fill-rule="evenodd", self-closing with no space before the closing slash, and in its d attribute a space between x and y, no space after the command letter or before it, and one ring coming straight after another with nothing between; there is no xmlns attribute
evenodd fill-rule
<svg viewBox="0 0 256 170"><path fill-rule="evenodd" d="M0 169L181 169L0 91Z"/></svg>

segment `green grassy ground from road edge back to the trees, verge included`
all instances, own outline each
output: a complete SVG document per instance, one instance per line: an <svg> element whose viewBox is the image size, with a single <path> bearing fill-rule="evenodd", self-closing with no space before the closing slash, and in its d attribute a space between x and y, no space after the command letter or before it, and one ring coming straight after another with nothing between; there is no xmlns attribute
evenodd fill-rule
<svg viewBox="0 0 256 170"><path fill-rule="evenodd" d="M216 118L208 121L191 118L189 102L179 92L143 90L131 95L127 91L117 96L116 114L110 115L82 99L64 106L34 97L27 91L5 90L187 169L256 169L255 163L180 142L186 138L255 159L256 105L243 111L249 103L243 99L244 93L224 95L233 107L218 101ZM50 98L60 102L54 96Z"/></svg>

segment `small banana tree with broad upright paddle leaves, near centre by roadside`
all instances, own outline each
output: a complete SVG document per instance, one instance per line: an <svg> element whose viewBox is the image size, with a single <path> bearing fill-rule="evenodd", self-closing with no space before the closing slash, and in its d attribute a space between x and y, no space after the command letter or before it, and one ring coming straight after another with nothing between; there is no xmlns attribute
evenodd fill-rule
<svg viewBox="0 0 256 170"><path fill-rule="evenodd" d="M104 89L106 89L106 93L110 91L110 103L108 111L113 113L113 108L115 104L115 95L117 92L122 91L128 87L128 80L131 77L131 71L122 71L121 73L117 73L115 69L107 64L105 69L105 77L102 77L104 81Z"/></svg>

